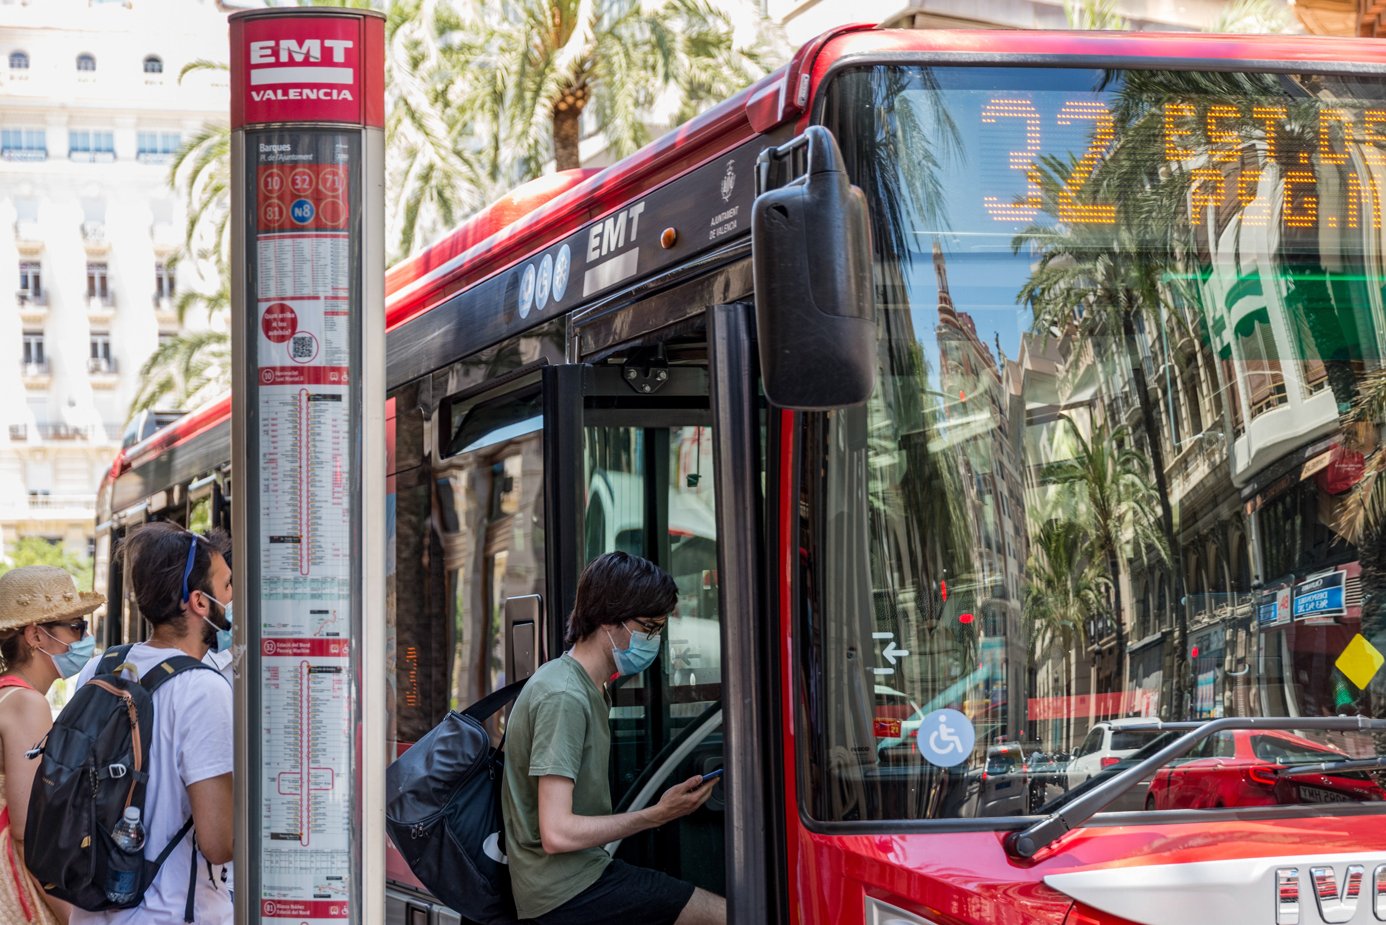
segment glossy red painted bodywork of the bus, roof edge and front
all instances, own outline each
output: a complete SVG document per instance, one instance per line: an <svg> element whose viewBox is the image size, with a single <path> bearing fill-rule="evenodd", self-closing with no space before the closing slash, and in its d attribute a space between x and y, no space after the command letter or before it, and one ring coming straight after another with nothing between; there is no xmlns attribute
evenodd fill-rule
<svg viewBox="0 0 1386 925"><path fill-rule="evenodd" d="M947 32L879 30L869 25L836 29L809 42L793 61L771 76L692 119L646 148L599 173L570 172L535 180L505 201L478 213L442 241L405 260L387 276L387 318L391 331L427 314L450 296L463 292L574 233L593 219L610 215L653 188L667 184L700 165L714 161L758 134L793 122L809 125L812 102L834 65L893 61L992 62L1005 65L1024 55L1027 64L1149 66L1217 69L1275 68L1277 65L1342 65L1343 62L1386 65L1386 46L1371 39L1317 39L1303 36L1221 36L1189 33L1082 33L1082 32ZM230 415L230 396L183 417L140 444L122 451L111 467L107 483L144 465L169 447L177 446L222 424ZM796 414L779 413L782 447L778 465L780 522L769 541L778 550L775 573L765 582L778 587L779 658L791 662L790 601L796 550L783 540L791 536L790 478L796 461ZM1117 925L1128 919L1099 911L1081 901L1084 888L1070 893L1045 883L1056 874L1110 871L1117 882L1123 871L1137 871L1135 879L1120 879L1123 889L1142 903L1161 903L1167 893L1141 897L1142 878L1137 868L1160 867L1177 882L1175 892L1191 901L1214 901L1220 886L1191 874L1178 886L1178 871L1193 864L1240 861L1247 870L1258 859L1337 856L1340 860L1386 861L1386 829L1372 814L1321 816L1306 813L1295 818L1254 818L1224 813L1200 820L1196 811L1152 816L1150 821L1121 825L1092 824L1070 832L1030 861L1013 861L1003 850L1008 831L977 831L979 825L958 825L972 831L901 831L901 824L859 823L861 834L825 831L801 810L796 770L796 695L791 673L782 670L780 727L783 741L784 828L768 834L779 841L784 856L784 881L779 885L790 922L816 925L863 922L866 897L877 897L909 910L922 921L938 925ZM983 823L984 820L967 820ZM872 828L879 831L870 831ZM392 859L398 860L394 852ZM1303 860L1300 861L1304 863ZM1375 864L1376 861L1374 861ZM1372 865L1367 867L1372 871ZM407 871L392 867L391 877L412 881ZM1371 883L1362 883L1369 890ZM1301 922L1315 922L1317 910L1301 896ZM1077 900L1077 901L1076 901ZM1354 922L1367 921L1372 896L1364 897ZM1275 922L1271 896L1257 899L1254 908L1242 908L1232 921ZM1161 924L1174 915L1156 911L1149 921ZM1209 918L1217 921L1217 915ZM886 921L886 919L881 919ZM898 919L897 919L898 921Z"/></svg>

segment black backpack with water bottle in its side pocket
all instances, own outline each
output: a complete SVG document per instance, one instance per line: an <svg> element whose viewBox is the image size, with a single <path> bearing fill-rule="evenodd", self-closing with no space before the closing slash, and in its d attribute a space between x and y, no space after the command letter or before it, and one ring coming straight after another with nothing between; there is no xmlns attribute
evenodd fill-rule
<svg viewBox="0 0 1386 925"><path fill-rule="evenodd" d="M133 644L132 644L133 645ZM139 806L144 820L144 785L150 780L154 734L154 691L183 672L207 669L190 655L168 658L136 684L121 677L130 645L107 649L97 673L78 688L43 741L28 755L42 755L29 793L24 827L25 865L50 896L89 913L134 908L164 861L193 828L188 817L157 860L146 860L133 900L115 904L105 896L105 877L119 850L111 829L126 806ZM194 838L194 852L197 843ZM187 908L193 921L197 856L193 856Z"/></svg>

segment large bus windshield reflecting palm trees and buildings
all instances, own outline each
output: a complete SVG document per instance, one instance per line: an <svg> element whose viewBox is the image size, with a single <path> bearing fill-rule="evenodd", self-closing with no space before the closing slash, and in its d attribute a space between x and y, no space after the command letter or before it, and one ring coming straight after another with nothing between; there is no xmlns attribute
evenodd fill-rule
<svg viewBox="0 0 1386 925"><path fill-rule="evenodd" d="M809 816L1026 816L1150 720L1386 716L1382 79L883 65L822 120L880 366L802 415ZM1274 769L1383 746L1234 730L1109 809L1382 800Z"/></svg>

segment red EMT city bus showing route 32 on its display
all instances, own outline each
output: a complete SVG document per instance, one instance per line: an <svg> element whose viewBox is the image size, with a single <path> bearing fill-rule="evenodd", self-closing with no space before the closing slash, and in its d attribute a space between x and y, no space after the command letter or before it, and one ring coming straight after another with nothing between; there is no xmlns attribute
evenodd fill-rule
<svg viewBox="0 0 1386 925"><path fill-rule="evenodd" d="M521 187L388 276L389 748L620 548L679 605L614 802L726 782L611 850L733 921L1386 919L1383 148L1371 40L847 28ZM865 228L783 206L837 158L865 352ZM114 464L101 644L115 540L229 523L227 413Z"/></svg>

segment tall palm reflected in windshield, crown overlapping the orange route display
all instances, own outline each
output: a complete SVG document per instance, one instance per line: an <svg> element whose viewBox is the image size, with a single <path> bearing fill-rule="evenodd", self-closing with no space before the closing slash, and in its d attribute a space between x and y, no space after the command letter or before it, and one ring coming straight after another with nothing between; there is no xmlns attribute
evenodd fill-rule
<svg viewBox="0 0 1386 925"><path fill-rule="evenodd" d="M1098 163L1085 174L1078 169L1077 155L1051 155L1037 162L1033 177L1040 187L1044 219L1012 242L1017 253L1028 248L1035 255L1034 271L1017 298L1033 306L1035 332L1074 334L1070 356L1089 348L1099 360L1109 349L1120 357L1117 343L1125 348L1124 366L1139 406L1160 505L1161 543L1156 548L1163 548L1161 558L1167 561L1178 557L1179 547L1166 479L1161 415L1148 388L1138 332L1173 327L1179 338L1200 335L1203 282L1213 273L1210 226L1217 233L1231 226L1236 235L1234 248L1239 249L1242 223L1236 219L1252 205L1245 190L1257 188L1263 177L1271 179L1268 201L1283 204L1285 177L1308 163L1311 155L1317 158L1324 141L1319 116L1325 107L1340 102L1311 93L1288 93L1293 80L1267 73L1107 72L1099 89L1113 91L1112 122L1100 130L1110 140ZM1229 101L1238 105L1227 105ZM1224 111L1213 118L1213 107ZM1089 141L1095 137L1091 134ZM1074 184L1073 177L1084 179ZM1076 204L1105 209L1112 217L1073 220ZM1286 238L1292 237L1289 231ZM1278 262L1292 263L1300 249L1304 248L1282 241ZM1308 289L1303 292L1308 299ZM1324 320L1317 312L1308 314L1313 316L1307 318L1310 336L1335 354L1343 339L1336 320ZM1177 350L1168 359L1178 366L1186 363ZM1344 396L1354 386L1342 372L1335 370L1331 378L1335 393ZM1170 446L1177 446L1173 421L1170 426ZM1171 600L1181 601L1182 566L1174 564L1168 575ZM1188 641L1184 607L1175 607L1175 677L1184 679ZM1188 694L1181 680L1177 716L1186 709Z"/></svg>

